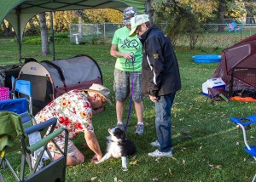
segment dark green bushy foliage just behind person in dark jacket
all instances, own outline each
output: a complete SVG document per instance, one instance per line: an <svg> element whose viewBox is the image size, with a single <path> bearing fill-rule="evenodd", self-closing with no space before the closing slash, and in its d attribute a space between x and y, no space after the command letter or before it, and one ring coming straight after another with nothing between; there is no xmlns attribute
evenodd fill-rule
<svg viewBox="0 0 256 182"><path fill-rule="evenodd" d="M193 49L202 32L197 14L192 14L185 5L176 3L176 1L171 2L167 3L164 0L153 1L154 22L156 24L167 23L164 30L166 35L172 39L173 45L176 45L177 39L181 35L188 34L189 45Z"/></svg>

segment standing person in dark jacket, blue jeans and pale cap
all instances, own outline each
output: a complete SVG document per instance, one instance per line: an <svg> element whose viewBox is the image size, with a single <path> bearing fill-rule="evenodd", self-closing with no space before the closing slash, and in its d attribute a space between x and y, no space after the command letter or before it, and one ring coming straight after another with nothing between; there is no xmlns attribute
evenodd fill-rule
<svg viewBox="0 0 256 182"><path fill-rule="evenodd" d="M143 94L155 103L155 128L158 147L148 156L172 156L171 109L177 90L181 88L179 68L171 40L157 26L151 25L148 14L131 19L129 36L137 34L143 43Z"/></svg>

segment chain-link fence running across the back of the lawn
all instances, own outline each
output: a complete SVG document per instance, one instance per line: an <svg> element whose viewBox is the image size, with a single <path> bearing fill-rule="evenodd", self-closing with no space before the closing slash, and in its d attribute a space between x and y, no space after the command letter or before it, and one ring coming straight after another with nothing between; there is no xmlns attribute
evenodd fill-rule
<svg viewBox="0 0 256 182"><path fill-rule="evenodd" d="M114 31L124 24L73 24L70 26L71 43L111 43ZM164 27L164 26L162 26ZM202 33L195 47L228 48L242 39L256 34L256 24L237 24L237 30L231 30L228 24L203 24ZM239 29L239 30L238 30ZM177 38L177 46L189 46L190 35L184 33Z"/></svg>

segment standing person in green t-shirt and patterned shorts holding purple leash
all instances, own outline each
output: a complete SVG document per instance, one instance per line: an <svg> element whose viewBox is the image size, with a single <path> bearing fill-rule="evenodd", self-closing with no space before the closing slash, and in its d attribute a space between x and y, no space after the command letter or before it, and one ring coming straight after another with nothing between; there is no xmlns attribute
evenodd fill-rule
<svg viewBox="0 0 256 182"><path fill-rule="evenodd" d="M137 36L128 37L131 31L130 20L137 14L137 9L128 7L124 10L125 26L115 31L110 54L116 57L113 90L116 99L117 126L123 127L125 100L132 94L137 114L136 134L143 134L143 93L142 93L142 44Z"/></svg>

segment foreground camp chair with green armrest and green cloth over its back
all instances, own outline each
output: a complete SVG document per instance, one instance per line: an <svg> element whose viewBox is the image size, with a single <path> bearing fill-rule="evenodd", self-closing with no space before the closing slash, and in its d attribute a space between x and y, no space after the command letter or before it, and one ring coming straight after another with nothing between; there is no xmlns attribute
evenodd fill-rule
<svg viewBox="0 0 256 182"><path fill-rule="evenodd" d="M20 177L17 173L15 173L15 170L11 167L11 164L9 163L9 160L6 158L6 153L9 152L9 150L12 149L10 146L5 146L2 151L0 151L0 166L3 166L5 164L10 172L14 175L15 179L17 181L45 181L45 178L43 176L49 176L52 177L55 173L56 175L61 175L61 180L65 180L65 172L66 172L66 161L67 161L67 140L68 140L68 132L67 128L58 128L54 131L55 125L56 125L56 118L51 118L46 122L41 122L37 125L34 125L32 127L24 128L21 123L21 117L20 115L17 115L15 113L9 112L9 111L0 111L0 117L4 117L6 115L11 116L11 118L15 117L17 120L15 120L15 127L19 126L18 128L21 128L21 131L19 131L19 140L20 140L20 151L21 151L21 163L20 163ZM42 131L44 128L49 128L51 126L51 129L49 131L49 134L44 137L44 139L41 139L39 142L33 144L33 145L26 145L27 143L27 135L32 134L34 132ZM17 127L16 127L17 129ZM55 137L59 136L62 133L65 133L65 147L64 151L61 151L60 147L55 144L55 141L53 140ZM56 148L61 152L62 156L56 160L53 161L52 157L50 156L49 152L47 152L47 144L49 141L52 141ZM16 147L16 145L15 145ZM38 155L38 160L35 162L34 166L32 166L31 161L31 155L34 151L37 151L43 147L44 149L40 151ZM44 168L41 168L38 170L38 164L42 159L42 156L44 155L44 151L46 151L49 155L49 164L45 166ZM28 163L30 173L29 177L25 179L25 165L26 162ZM62 167L62 171L60 168ZM53 172L54 171L54 172ZM1 175L0 175L1 176ZM51 178L48 179L50 181ZM60 181L61 181L60 180ZM55 181L55 180L54 180Z"/></svg>

